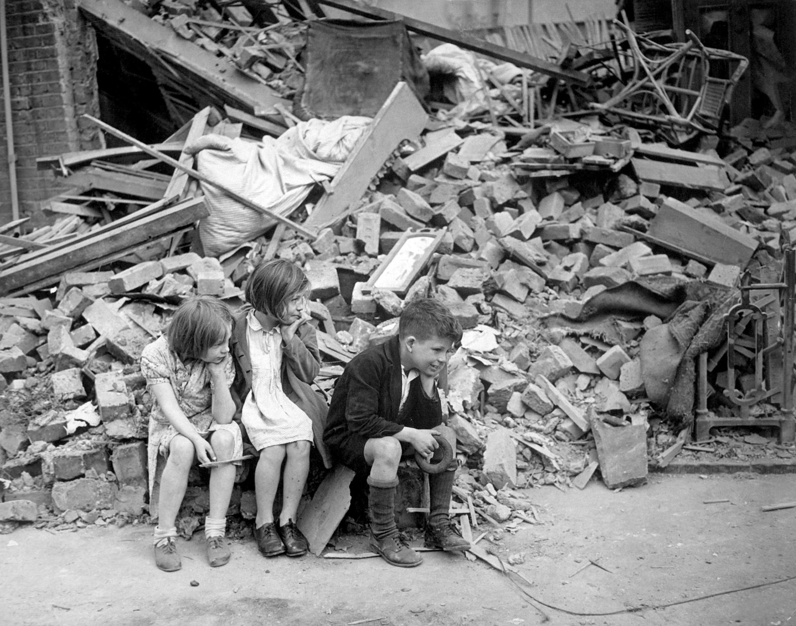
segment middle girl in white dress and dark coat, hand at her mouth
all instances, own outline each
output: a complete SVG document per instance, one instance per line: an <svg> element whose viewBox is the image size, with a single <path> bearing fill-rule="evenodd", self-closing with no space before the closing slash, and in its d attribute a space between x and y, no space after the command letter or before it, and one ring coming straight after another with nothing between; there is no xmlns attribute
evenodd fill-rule
<svg viewBox="0 0 796 626"><path fill-rule="evenodd" d="M330 465L322 443L326 402L310 388L321 357L314 326L308 323L309 291L306 275L293 263L282 259L261 263L248 278L250 306L236 315L232 336L236 362L232 396L240 407L245 433L259 450L255 539L267 557L307 553L307 540L295 522L313 439L325 465ZM280 476L282 507L275 520Z"/></svg>

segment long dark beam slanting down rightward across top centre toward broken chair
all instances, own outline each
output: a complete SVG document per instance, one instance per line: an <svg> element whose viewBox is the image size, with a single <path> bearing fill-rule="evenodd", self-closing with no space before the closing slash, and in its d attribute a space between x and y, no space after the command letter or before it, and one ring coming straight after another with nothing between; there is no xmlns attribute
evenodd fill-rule
<svg viewBox="0 0 796 626"><path fill-rule="evenodd" d="M517 52L516 50L504 48L501 45L490 44L488 41L481 41L470 35L458 33L455 30L444 29L441 26L429 24L427 21L416 20L412 17L392 13L392 11L385 11L375 6L362 6L357 4L357 2L353 2L353 0L318 0L318 4L348 11L354 15L370 17L374 20L400 20L404 22L404 25L406 25L409 30L413 30L416 33L426 35L427 37L433 37L439 41L446 41L447 43L458 45L461 48L491 56L494 59L509 61L509 63L513 63L519 68L532 69L534 72L541 72L542 74L547 74L548 76L553 76L560 80L567 80L579 85L587 85L591 82L591 76L585 72L563 69L555 63L539 59L525 52Z"/></svg>

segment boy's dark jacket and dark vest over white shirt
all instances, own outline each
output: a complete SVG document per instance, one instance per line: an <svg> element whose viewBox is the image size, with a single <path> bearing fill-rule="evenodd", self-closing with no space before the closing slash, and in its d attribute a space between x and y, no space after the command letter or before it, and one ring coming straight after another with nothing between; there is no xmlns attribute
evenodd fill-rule
<svg viewBox="0 0 796 626"><path fill-rule="evenodd" d="M444 388L446 382L447 367L443 367L439 386ZM400 349L394 336L354 356L345 366L334 387L324 441L334 449L349 434L387 437L404 426L431 429L443 422L439 394L425 395L419 378L412 381L399 414L400 396Z"/></svg>

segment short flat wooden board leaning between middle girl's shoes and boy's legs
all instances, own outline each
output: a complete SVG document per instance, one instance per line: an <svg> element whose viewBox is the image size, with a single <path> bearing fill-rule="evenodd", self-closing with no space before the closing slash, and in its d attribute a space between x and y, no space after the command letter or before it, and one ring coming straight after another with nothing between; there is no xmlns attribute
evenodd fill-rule
<svg viewBox="0 0 796 626"><path fill-rule="evenodd" d="M335 529L351 506L353 469L338 465L318 485L310 504L298 516L296 525L310 542L315 556L326 548Z"/></svg>

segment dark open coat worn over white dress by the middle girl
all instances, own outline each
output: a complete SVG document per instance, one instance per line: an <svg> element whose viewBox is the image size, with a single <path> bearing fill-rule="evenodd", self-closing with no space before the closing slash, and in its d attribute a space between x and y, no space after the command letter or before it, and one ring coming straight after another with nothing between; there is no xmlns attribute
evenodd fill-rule
<svg viewBox="0 0 796 626"><path fill-rule="evenodd" d="M246 336L248 324L246 316L250 306L244 307L235 316L235 327L229 341L230 351L235 360L235 381L230 389L235 401L235 420L240 423L240 413L248 392L252 389L252 358ZM312 420L315 446L321 454L323 465L330 468L331 457L323 442L326 426L326 401L310 387L321 369L321 353L318 352L318 338L315 328L309 323L298 327L289 344L282 344L282 390L288 398L303 410ZM240 425L245 430L243 424Z"/></svg>

